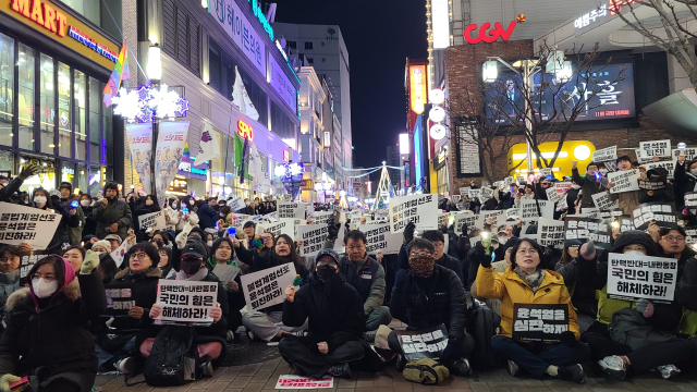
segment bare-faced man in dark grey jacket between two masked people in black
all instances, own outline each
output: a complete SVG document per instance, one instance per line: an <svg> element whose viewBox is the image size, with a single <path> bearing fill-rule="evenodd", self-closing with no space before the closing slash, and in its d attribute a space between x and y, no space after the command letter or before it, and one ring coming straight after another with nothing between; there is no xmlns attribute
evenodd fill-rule
<svg viewBox="0 0 697 392"><path fill-rule="evenodd" d="M339 230L343 230L341 223L330 223L329 234L325 242L325 248L333 248L334 241L339 236ZM387 326L392 321L390 309L382 306L384 303L384 268L368 256L366 245L368 240L366 235L358 231L352 230L344 237L346 245L346 254L339 261L339 270L346 278L346 282L351 284L363 299L363 310L366 317L367 339L375 338L374 331L380 326Z"/></svg>

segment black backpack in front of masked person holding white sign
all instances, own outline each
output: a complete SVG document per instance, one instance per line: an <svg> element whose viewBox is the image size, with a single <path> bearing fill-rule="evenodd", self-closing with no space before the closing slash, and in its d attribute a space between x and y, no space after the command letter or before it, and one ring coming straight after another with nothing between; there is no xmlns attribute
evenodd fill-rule
<svg viewBox="0 0 697 392"><path fill-rule="evenodd" d="M166 326L155 338L143 376L148 385L174 387L196 379L198 350L194 329Z"/></svg>

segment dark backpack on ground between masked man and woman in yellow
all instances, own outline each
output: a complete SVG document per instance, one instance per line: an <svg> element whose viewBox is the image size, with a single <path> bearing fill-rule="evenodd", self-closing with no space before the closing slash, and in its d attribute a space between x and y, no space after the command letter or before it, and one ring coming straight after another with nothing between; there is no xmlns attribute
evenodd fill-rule
<svg viewBox="0 0 697 392"><path fill-rule="evenodd" d="M491 350L491 338L497 334L499 323L501 316L484 303L475 301L467 315L467 332L475 340L475 348L469 356L474 368L491 369L500 366L499 357Z"/></svg>

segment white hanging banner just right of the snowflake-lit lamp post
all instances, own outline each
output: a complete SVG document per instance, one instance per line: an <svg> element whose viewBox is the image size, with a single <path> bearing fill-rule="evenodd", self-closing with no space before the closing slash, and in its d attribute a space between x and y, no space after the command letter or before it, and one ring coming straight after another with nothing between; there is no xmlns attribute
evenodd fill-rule
<svg viewBox="0 0 697 392"><path fill-rule="evenodd" d="M164 206L164 192L169 188L179 170L188 135L188 121L166 121L160 123L155 151L155 187L157 201Z"/></svg>

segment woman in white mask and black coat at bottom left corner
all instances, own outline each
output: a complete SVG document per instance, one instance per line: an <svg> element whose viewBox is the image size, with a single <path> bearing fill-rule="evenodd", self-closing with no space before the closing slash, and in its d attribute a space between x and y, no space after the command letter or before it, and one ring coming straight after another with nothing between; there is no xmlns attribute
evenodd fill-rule
<svg viewBox="0 0 697 392"><path fill-rule="evenodd" d="M94 258L76 275L58 255L36 262L30 284L8 298L0 338L0 390L29 376L35 391L87 392L97 376L95 345L86 323L107 309Z"/></svg>

